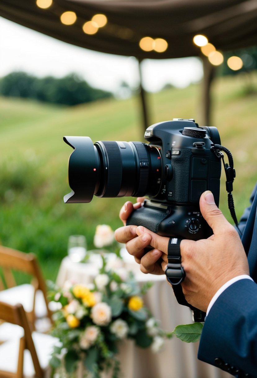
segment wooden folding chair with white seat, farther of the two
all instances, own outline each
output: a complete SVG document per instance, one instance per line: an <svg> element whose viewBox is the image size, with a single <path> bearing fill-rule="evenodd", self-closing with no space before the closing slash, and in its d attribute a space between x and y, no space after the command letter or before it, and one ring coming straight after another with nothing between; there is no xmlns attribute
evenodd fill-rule
<svg viewBox="0 0 257 378"><path fill-rule="evenodd" d="M35 255L0 246L0 268L0 301L12 305L21 303L33 329L39 318L47 318L52 324L46 285ZM32 278L31 282L17 285L14 271L28 274Z"/></svg>

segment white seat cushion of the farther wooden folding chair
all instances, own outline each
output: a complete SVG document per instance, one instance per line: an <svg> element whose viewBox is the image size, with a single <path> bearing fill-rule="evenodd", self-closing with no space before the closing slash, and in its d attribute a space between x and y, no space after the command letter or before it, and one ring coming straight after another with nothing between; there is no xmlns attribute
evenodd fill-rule
<svg viewBox="0 0 257 378"><path fill-rule="evenodd" d="M34 287L30 283L24 283L0 291L0 301L11 305L21 303L26 312L33 310ZM35 297L35 314L37 318L47 316L46 302L41 290L37 290Z"/></svg>

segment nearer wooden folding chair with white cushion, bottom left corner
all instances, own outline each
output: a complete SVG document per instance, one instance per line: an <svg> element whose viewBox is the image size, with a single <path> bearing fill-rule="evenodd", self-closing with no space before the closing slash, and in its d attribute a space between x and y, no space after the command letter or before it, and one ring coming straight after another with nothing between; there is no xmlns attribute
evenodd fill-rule
<svg viewBox="0 0 257 378"><path fill-rule="evenodd" d="M0 345L0 378L43 378L49 375L50 354L58 339L38 332L31 333L31 328L21 304L15 306L0 302L0 319L18 325L16 335ZM14 326L14 331L17 329ZM21 332L22 331L22 332ZM12 333L14 333L12 331ZM36 348L35 345L38 347ZM27 352L27 354L25 354Z"/></svg>

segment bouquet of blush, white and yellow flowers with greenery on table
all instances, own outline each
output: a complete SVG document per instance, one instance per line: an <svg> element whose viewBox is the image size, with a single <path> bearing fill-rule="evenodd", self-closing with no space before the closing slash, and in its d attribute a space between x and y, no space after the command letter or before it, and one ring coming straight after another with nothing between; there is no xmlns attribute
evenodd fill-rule
<svg viewBox="0 0 257 378"><path fill-rule="evenodd" d="M143 295L150 287L151 283L139 287L118 257L110 265L103 256L93 283L66 283L63 289L52 284L50 301L60 304L52 334L62 347L55 347L50 364L60 367L63 359L66 372L73 373L82 361L90 377L98 378L101 371L112 368L117 378L122 340L133 339L138 347L158 352L172 333L164 332L144 305ZM63 348L66 353L61 357Z"/></svg>

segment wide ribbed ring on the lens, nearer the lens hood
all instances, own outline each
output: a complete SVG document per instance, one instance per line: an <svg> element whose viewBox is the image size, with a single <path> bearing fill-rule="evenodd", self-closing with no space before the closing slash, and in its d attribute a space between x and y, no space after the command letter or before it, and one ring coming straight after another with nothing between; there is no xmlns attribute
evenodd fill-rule
<svg viewBox="0 0 257 378"><path fill-rule="evenodd" d="M102 142L108 156L108 178L104 197L117 197L121 190L122 160L118 143L115 141Z"/></svg>

